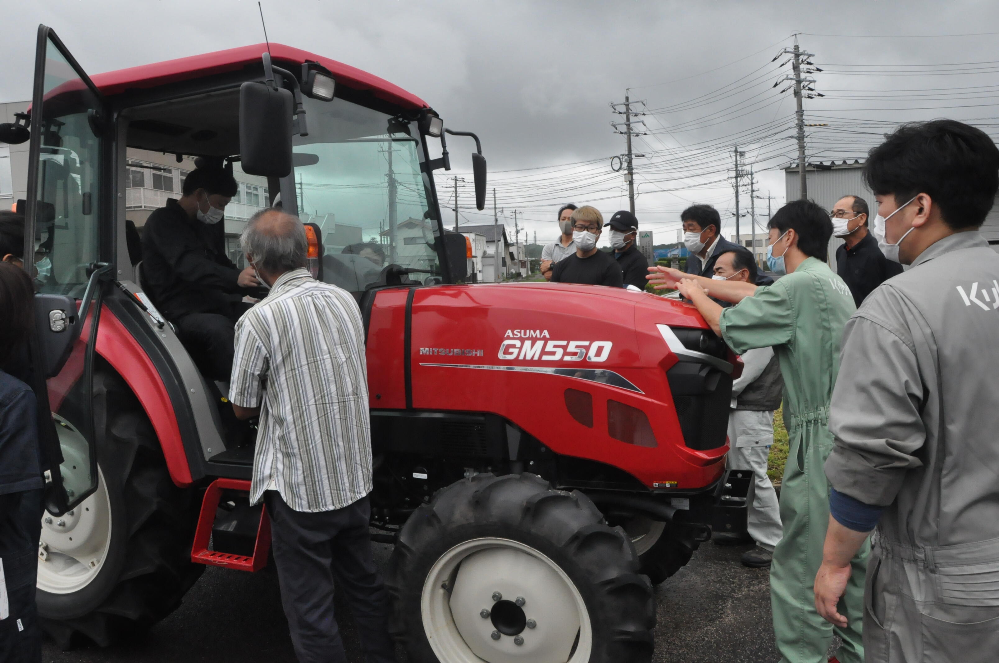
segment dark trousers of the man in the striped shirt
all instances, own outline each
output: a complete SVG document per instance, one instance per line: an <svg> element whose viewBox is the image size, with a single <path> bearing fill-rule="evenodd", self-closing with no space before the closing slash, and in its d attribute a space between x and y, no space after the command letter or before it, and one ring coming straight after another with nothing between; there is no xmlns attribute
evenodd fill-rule
<svg viewBox="0 0 999 663"><path fill-rule="evenodd" d="M281 602L301 663L348 663L333 614L334 582L347 595L369 663L394 663L389 593L372 555L368 497L333 511L306 513L276 490L264 493Z"/></svg>

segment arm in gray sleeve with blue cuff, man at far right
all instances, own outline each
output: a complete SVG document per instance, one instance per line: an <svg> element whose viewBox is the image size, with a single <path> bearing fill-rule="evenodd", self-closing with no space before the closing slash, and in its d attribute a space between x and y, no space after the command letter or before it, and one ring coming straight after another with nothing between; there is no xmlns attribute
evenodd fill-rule
<svg viewBox="0 0 999 663"><path fill-rule="evenodd" d="M850 577L850 560L894 501L906 472L922 464L915 454L926 439L913 341L900 326L880 319L897 318L899 303L890 292L871 297L876 306L865 310L878 312L879 319L865 314L846 324L829 407L835 438L825 461L830 519L815 576L815 607L839 626L846 619L836 603Z"/></svg>

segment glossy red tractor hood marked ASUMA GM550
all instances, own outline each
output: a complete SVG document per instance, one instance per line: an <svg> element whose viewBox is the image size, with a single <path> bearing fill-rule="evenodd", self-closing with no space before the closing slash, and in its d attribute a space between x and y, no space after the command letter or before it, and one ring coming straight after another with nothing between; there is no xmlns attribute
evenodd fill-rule
<svg viewBox="0 0 999 663"><path fill-rule="evenodd" d="M678 341L662 327L707 329L690 305L599 286L383 291L369 325L371 406L493 412L558 453L649 487L704 486L721 472L724 426L708 445L684 442L667 376Z"/></svg>

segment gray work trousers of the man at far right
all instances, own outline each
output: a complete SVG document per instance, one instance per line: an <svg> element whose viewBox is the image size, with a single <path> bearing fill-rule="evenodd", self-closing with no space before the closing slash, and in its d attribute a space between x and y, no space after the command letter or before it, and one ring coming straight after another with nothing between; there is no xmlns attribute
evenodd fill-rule
<svg viewBox="0 0 999 663"><path fill-rule="evenodd" d="M994 662L999 539L925 548L875 535L863 630L868 663Z"/></svg>

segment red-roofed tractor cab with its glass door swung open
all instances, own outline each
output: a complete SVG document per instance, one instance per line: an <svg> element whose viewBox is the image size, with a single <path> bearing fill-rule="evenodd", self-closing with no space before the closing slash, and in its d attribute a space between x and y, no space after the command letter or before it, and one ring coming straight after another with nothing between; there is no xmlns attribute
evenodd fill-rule
<svg viewBox="0 0 999 663"><path fill-rule="evenodd" d="M171 377L150 376L150 386L159 384L154 390L177 415L176 423L159 417L157 432L197 445L187 449L188 459L177 459L175 481L250 476L252 447L234 448L246 435L234 434L227 407L219 406L225 394L200 374L144 287L143 266L134 260L136 230L127 219L137 170L129 150L168 155L178 164L193 159L256 181L262 199L231 203L225 234L237 238L265 207L298 215L307 224L313 275L351 292L362 309L381 289L466 278L466 240L445 231L433 178L434 170L451 167L446 130L415 95L281 44L93 78L50 28L40 26L37 49L31 109L0 126L0 140L31 142L28 196L20 208L26 245L42 255L36 284L45 311L39 315L66 320L65 332L53 327L42 334L42 344L51 345L43 349L54 356L41 372L49 377L61 449L50 445L56 457L74 459L53 477L71 494L53 489L52 513L71 510L97 489L93 374L109 352L127 345L138 344L133 350L153 357L158 372ZM441 156L432 158L438 141ZM482 209L481 147L473 161ZM231 255L242 268L242 257ZM102 322L102 308L114 319ZM118 326L129 342L109 349L112 336L105 332ZM156 425L158 417L149 413Z"/></svg>

